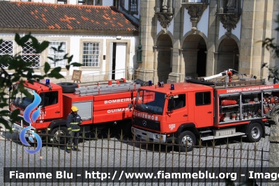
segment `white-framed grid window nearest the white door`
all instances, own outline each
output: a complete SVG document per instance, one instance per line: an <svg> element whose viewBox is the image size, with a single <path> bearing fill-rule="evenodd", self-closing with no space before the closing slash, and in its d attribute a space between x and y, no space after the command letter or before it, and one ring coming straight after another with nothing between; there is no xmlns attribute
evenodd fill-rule
<svg viewBox="0 0 279 186"><path fill-rule="evenodd" d="M82 65L98 67L100 64L99 42L84 42L82 48Z"/></svg>

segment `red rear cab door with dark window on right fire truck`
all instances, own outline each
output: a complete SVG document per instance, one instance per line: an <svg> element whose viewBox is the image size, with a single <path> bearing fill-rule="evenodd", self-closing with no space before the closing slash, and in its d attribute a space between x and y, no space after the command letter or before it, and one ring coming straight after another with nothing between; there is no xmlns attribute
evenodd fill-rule
<svg viewBox="0 0 279 186"><path fill-rule="evenodd" d="M195 93L195 124L197 127L213 125L213 93L211 91Z"/></svg>

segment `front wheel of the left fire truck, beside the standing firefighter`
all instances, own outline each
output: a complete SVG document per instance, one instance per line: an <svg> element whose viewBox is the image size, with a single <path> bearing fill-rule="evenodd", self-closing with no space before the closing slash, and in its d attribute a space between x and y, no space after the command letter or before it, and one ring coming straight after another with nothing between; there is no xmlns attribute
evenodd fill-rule
<svg viewBox="0 0 279 186"><path fill-rule="evenodd" d="M69 136L68 129L66 127L56 127L50 132L50 143L54 146L66 145L68 141L67 137Z"/></svg>

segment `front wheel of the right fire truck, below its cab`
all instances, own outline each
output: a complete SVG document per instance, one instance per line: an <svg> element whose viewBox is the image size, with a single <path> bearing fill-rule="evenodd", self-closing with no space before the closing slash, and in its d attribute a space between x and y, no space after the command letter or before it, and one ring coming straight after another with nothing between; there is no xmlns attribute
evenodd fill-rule
<svg viewBox="0 0 279 186"><path fill-rule="evenodd" d="M179 137L179 146L180 152L189 152L193 150L193 146L196 144L196 137L193 132L190 131L184 131L181 132L180 137Z"/></svg>

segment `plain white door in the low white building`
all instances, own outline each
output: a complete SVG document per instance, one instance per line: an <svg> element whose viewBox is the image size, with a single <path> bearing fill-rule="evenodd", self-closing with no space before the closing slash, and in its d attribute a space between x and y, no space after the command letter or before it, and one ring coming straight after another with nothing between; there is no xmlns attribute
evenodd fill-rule
<svg viewBox="0 0 279 186"><path fill-rule="evenodd" d="M115 79L125 78L126 43L116 42Z"/></svg>

